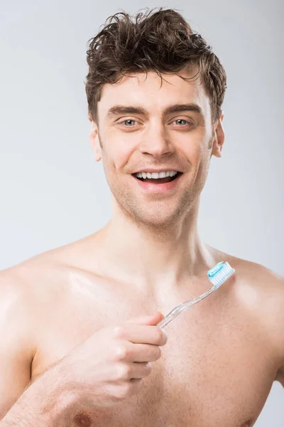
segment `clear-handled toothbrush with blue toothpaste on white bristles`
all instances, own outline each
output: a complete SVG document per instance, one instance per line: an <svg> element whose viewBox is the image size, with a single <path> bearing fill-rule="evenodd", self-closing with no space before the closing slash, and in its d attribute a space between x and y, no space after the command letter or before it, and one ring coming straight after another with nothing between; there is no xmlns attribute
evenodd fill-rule
<svg viewBox="0 0 284 427"><path fill-rule="evenodd" d="M199 297L195 297L192 300L185 302L180 302L180 304L176 305L175 308L173 308L173 310L171 310L168 315L166 315L163 320L157 324L157 326L164 327L165 325L168 325L168 323L175 319L175 317L178 317L180 313L188 310L190 307L192 307L192 305L197 304L197 302L204 300L204 298L215 292L215 290L223 285L223 283L226 282L226 280L229 279L234 273L235 269L231 268L231 265L229 265L227 262L221 261L221 263L215 265L211 270L207 271L209 281L213 284L212 288L207 290L207 292L204 292Z"/></svg>

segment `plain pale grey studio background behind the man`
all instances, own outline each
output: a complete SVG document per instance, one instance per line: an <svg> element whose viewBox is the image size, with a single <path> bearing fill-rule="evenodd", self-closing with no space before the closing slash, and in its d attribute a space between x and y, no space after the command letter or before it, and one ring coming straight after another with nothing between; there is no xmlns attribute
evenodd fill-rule
<svg viewBox="0 0 284 427"><path fill-rule="evenodd" d="M2 0L0 269L109 220L109 188L88 142L87 40L121 9L164 6L207 38L228 76L226 142L202 194L200 235L284 275L280 3ZM283 399L274 383L257 427L283 427Z"/></svg>

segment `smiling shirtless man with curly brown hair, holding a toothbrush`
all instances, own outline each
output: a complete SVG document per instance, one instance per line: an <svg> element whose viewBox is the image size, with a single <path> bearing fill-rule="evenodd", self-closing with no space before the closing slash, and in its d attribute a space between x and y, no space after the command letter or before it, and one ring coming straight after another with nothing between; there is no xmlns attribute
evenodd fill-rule
<svg viewBox="0 0 284 427"><path fill-rule="evenodd" d="M283 278L197 232L224 144L224 69L176 11L140 19L116 16L88 51L111 221L1 272L0 427L253 426L273 381L284 385ZM221 260L236 273L160 328Z"/></svg>

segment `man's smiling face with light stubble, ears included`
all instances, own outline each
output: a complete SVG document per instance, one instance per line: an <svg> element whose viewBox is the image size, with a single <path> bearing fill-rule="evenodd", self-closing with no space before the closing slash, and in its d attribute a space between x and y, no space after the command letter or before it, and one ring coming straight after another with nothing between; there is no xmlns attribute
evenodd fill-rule
<svg viewBox="0 0 284 427"><path fill-rule="evenodd" d="M182 71L185 77L195 73ZM102 159L115 203L148 226L170 226L190 214L210 159L221 157L224 142L223 116L212 123L200 80L163 78L161 85L156 73L138 73L104 85L98 123L89 117L90 142L97 161ZM153 174L145 179L147 172Z"/></svg>

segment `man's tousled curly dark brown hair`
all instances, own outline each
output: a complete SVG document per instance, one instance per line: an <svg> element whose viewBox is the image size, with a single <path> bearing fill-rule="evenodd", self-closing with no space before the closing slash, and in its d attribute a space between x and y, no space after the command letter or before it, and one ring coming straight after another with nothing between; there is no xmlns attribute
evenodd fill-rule
<svg viewBox="0 0 284 427"><path fill-rule="evenodd" d="M148 8L147 8L148 9ZM226 73L212 47L174 9L160 7L153 13L139 11L131 16L125 11L107 18L104 28L89 39L85 81L88 112L97 122L97 102L105 83L119 83L124 75L155 71L173 74L197 65L209 96L212 121L221 114L226 90ZM184 80L188 78L182 77Z"/></svg>

